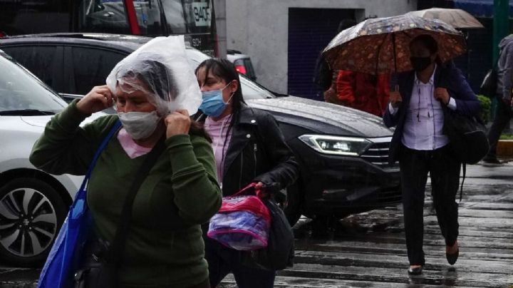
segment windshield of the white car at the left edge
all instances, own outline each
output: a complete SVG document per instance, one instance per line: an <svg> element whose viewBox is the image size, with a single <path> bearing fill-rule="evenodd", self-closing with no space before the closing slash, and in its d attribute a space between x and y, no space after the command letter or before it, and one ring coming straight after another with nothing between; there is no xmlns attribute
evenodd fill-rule
<svg viewBox="0 0 513 288"><path fill-rule="evenodd" d="M0 115L53 115L65 106L41 81L0 53Z"/></svg>

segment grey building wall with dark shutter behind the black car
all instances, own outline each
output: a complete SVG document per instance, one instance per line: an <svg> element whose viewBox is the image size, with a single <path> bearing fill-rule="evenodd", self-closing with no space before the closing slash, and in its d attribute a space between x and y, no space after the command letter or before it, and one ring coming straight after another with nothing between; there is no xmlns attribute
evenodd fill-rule
<svg viewBox="0 0 513 288"><path fill-rule="evenodd" d="M417 9L417 0L226 0L227 48L252 58L258 82L278 93L319 98L318 53L341 20Z"/></svg>

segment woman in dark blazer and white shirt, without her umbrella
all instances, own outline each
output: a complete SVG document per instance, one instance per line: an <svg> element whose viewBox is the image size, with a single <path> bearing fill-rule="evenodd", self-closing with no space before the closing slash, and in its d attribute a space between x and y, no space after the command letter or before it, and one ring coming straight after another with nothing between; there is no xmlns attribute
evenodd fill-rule
<svg viewBox="0 0 513 288"><path fill-rule="evenodd" d="M388 127L396 127L389 160L398 160L400 166L408 274L420 274L425 265L423 208L428 173L447 262L455 264L460 251L455 196L461 163L443 133L442 106L477 116L480 103L460 70L452 62L441 63L432 36L416 36L409 46L414 71L398 75L399 91L390 92L383 120ZM442 81L445 88L440 87Z"/></svg>

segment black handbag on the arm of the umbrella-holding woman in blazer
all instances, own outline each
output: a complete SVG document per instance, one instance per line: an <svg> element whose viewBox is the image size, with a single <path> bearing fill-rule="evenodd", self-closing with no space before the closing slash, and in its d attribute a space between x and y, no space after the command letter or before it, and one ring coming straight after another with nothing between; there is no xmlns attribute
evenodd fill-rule
<svg viewBox="0 0 513 288"><path fill-rule="evenodd" d="M449 138L449 145L457 160L465 164L478 163L489 150L487 129L477 117L444 111L443 132Z"/></svg>

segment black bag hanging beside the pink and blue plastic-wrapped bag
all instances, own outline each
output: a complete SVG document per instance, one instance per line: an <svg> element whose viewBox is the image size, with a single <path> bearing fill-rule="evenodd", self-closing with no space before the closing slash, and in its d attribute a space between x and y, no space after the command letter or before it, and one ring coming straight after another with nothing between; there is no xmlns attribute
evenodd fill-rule
<svg viewBox="0 0 513 288"><path fill-rule="evenodd" d="M272 199L262 200L271 215L267 247L242 252L242 263L271 271L292 267L294 264L294 232L285 213Z"/></svg>

